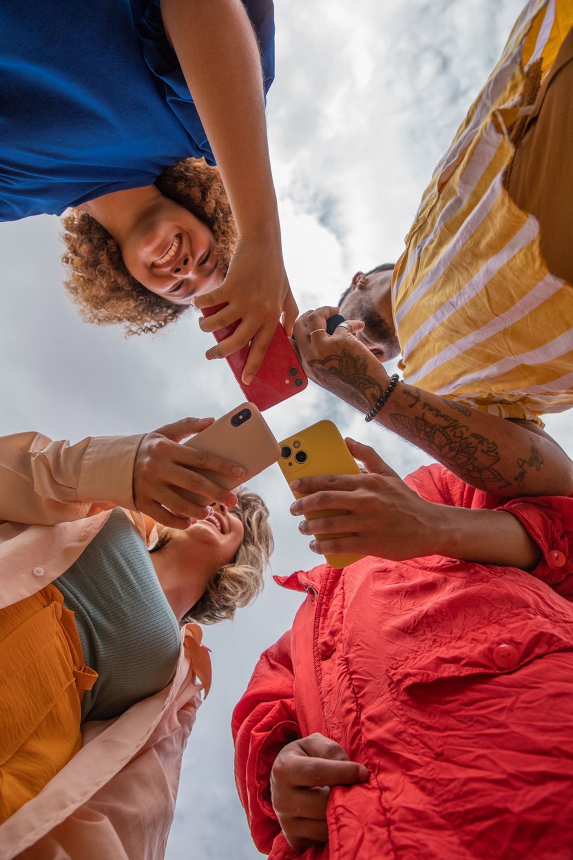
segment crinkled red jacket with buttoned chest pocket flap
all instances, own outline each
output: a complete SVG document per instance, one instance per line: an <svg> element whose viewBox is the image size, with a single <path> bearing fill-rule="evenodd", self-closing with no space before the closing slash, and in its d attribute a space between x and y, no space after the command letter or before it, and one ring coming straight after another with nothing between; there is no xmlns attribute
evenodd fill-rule
<svg viewBox="0 0 573 860"><path fill-rule="evenodd" d="M278 579L308 593L235 709L235 775L259 851L294 857L271 806L279 749L320 732L369 770L332 789L307 860L573 857L573 499L505 501L441 467L430 501L510 511L533 574L430 556Z"/></svg>

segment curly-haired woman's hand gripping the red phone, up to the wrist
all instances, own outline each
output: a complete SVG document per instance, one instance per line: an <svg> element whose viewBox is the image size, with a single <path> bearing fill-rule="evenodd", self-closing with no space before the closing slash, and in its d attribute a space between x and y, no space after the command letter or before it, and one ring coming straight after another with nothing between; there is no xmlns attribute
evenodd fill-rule
<svg viewBox="0 0 573 860"><path fill-rule="evenodd" d="M211 347L208 359L226 358L251 343L242 380L249 384L265 357L277 329L279 317L287 335L292 334L298 308L284 271L280 237L241 238L229 266L227 277L216 290L199 295L199 309L226 304L213 316L199 320L202 331L217 331L240 321L235 332Z"/></svg>

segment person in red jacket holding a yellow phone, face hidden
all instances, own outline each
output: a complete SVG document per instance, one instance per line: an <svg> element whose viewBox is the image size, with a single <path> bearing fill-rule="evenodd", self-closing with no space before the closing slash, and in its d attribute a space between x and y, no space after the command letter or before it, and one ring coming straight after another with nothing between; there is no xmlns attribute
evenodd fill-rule
<svg viewBox="0 0 573 860"><path fill-rule="evenodd" d="M296 482L324 552L233 716L273 860L573 857L573 497L505 500L432 465ZM293 486L293 485L291 485ZM294 487L293 487L294 488ZM343 537L328 537L342 534Z"/></svg>

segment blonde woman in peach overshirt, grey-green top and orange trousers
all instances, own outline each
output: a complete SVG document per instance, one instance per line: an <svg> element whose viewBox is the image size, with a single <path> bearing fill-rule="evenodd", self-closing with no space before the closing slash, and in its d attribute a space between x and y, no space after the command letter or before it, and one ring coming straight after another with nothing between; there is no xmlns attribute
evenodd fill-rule
<svg viewBox="0 0 573 860"><path fill-rule="evenodd" d="M177 529L90 502L117 500L125 441L78 445L0 439L0 857L50 857L54 843L90 857L87 810L107 802L94 851L161 857L210 686L196 622L259 593L268 511L239 488L233 507L214 502Z"/></svg>

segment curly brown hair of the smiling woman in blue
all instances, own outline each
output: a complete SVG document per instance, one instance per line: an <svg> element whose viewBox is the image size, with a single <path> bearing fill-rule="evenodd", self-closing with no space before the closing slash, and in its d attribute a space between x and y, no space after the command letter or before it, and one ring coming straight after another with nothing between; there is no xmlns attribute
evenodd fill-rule
<svg viewBox="0 0 573 860"><path fill-rule="evenodd" d="M184 158L164 170L155 185L207 224L226 273L237 234L219 171L204 158ZM62 222L67 248L62 261L68 268L64 284L85 322L119 322L125 335L142 335L163 329L188 310L188 305L168 302L140 284L127 271L118 243L87 212L74 209Z"/></svg>

